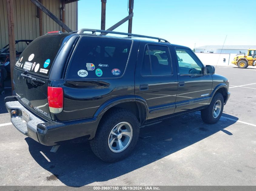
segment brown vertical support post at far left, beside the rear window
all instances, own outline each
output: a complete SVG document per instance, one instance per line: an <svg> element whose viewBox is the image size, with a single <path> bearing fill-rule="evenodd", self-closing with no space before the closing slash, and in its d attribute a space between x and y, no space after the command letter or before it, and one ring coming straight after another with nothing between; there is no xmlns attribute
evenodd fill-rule
<svg viewBox="0 0 256 191"><path fill-rule="evenodd" d="M12 83L12 94L13 94L13 91L14 91L13 68L14 68L14 63L16 61L13 0L6 0L6 4L7 4L8 37L9 37L9 51L10 51L11 83Z"/></svg>

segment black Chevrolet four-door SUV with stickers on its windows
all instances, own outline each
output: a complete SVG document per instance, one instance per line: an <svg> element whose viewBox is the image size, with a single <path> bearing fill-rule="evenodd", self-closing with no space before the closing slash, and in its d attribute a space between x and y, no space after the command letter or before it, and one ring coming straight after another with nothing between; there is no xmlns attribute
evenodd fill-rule
<svg viewBox="0 0 256 191"><path fill-rule="evenodd" d="M108 162L131 153L140 127L198 110L216 123L230 96L228 79L188 47L105 30L38 37L13 76L16 95L5 106L16 129L43 145L90 140Z"/></svg>

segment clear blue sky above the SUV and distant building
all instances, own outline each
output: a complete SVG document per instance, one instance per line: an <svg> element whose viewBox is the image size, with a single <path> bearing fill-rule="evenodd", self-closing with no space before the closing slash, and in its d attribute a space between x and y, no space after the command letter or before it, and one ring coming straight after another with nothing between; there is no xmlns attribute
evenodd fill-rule
<svg viewBox="0 0 256 191"><path fill-rule="evenodd" d="M128 16L128 0L107 0L106 29ZM132 33L188 46L256 45L256 1L134 0ZM78 1L78 29L101 27L101 0ZM128 21L114 31L127 32ZM195 44L196 43L196 44Z"/></svg>

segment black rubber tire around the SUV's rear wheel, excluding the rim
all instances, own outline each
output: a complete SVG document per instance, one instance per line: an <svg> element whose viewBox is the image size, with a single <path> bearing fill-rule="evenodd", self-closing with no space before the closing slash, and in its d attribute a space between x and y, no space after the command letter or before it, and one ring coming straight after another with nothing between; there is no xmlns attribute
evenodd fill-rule
<svg viewBox="0 0 256 191"><path fill-rule="evenodd" d="M111 151L109 138L112 129L121 122L131 125L132 136L128 146L118 153ZM103 116L98 126L95 137L90 141L91 150L94 154L105 162L116 162L131 154L139 137L139 122L137 117L128 110L121 108L113 109Z"/></svg>

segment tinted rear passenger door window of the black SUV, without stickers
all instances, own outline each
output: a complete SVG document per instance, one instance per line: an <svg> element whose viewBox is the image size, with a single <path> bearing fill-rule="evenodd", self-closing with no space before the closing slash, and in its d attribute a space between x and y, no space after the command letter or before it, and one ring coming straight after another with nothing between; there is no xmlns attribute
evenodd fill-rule
<svg viewBox="0 0 256 191"><path fill-rule="evenodd" d="M167 46L147 45L141 75L171 75L171 57Z"/></svg>

